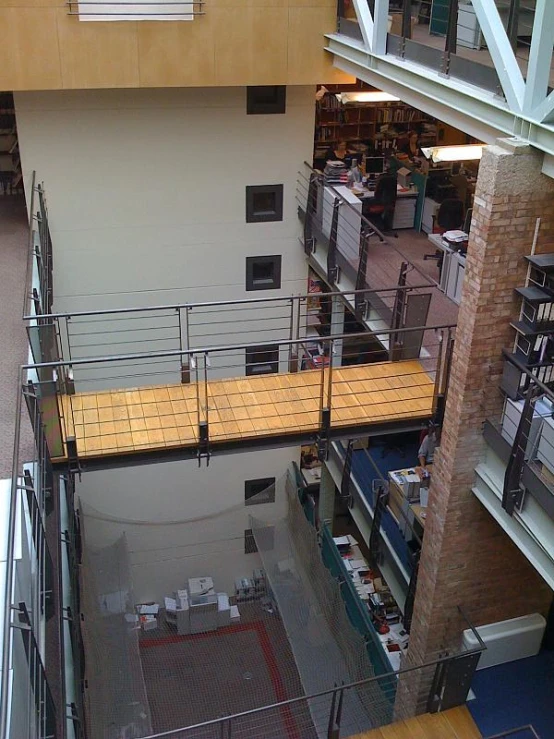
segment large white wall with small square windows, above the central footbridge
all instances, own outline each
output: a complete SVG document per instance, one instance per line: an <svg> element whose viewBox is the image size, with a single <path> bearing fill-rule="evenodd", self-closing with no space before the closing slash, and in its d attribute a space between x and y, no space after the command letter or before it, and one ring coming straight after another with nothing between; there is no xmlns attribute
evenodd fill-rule
<svg viewBox="0 0 554 739"><path fill-rule="evenodd" d="M17 93L24 173L36 170L47 193L55 310L306 293L295 190L297 172L312 152L314 108L311 87L287 89L284 115L249 116L246 88ZM283 221L248 224L245 188L263 184L284 185ZM282 255L281 289L246 292L246 257L272 254ZM205 341L196 338L194 345L288 338L284 310L243 311L228 326L206 329ZM242 325L253 317L256 323ZM198 337L195 321L216 318L221 316L191 316L192 334ZM175 320L143 325L167 323ZM97 324L72 325L81 332L99 330ZM90 340L94 346L79 350L78 344L89 343L80 336L72 342L72 358L180 348L174 328L157 334L159 342L153 336L97 333ZM212 363L243 370L244 355L214 356ZM149 366L146 371L164 369ZM103 386L178 382L178 364L169 369L175 378L145 379L142 366L140 383L127 378Z"/></svg>

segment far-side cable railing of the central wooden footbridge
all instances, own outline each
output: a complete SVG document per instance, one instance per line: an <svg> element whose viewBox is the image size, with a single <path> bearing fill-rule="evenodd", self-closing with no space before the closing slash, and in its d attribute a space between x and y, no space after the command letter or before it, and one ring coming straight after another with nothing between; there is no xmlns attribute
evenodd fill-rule
<svg viewBox="0 0 554 739"><path fill-rule="evenodd" d="M394 305L399 295L409 295L422 286L404 285L380 290L308 293L275 298L184 303L147 308L111 309L55 313L29 321L29 336L36 361L44 359L45 343L56 346L51 359L76 360L101 355L142 351L202 349L207 345L302 340L306 346L320 336L352 324L345 304L360 300ZM423 285L424 286L424 285ZM344 323L346 321L346 324ZM389 328L383 324L383 328ZM358 327L359 329L359 327ZM346 329L345 329L346 330ZM45 337L49 336L49 342ZM351 352L348 347L345 353Z"/></svg>

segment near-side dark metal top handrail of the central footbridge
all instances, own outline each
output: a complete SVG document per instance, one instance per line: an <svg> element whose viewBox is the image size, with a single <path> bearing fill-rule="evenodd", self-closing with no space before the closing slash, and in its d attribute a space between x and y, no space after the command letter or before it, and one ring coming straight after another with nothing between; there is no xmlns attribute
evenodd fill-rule
<svg viewBox="0 0 554 739"><path fill-rule="evenodd" d="M390 334L406 334L410 331L439 331L441 329L452 329L456 328L456 324L452 323L444 323L444 324L437 324L432 326L410 326L409 328L394 328L394 329L378 329L374 332L372 332L373 336L379 337L379 336L389 336ZM367 338L368 337L367 331L362 331L355 334L335 334L333 336L320 336L318 337L317 341L321 344L332 344L333 341L340 340L340 339L356 339L356 338ZM268 341L264 344L267 349L269 348L277 348L277 347L285 347L285 346L295 346L302 344L306 341L305 338L302 339L283 339L283 340L276 340L276 341ZM87 359L73 359L73 360L57 360L54 362L39 362L36 364L25 364L23 365L24 370L30 370L30 369L41 369L46 367L75 367L79 365L86 365L86 364L104 364L106 362L119 362L124 361L127 359L152 359L152 358L163 358L163 357L190 357L195 354L209 354L210 352L221 352L221 351L235 351L238 349L250 349L253 347L259 346L259 341L253 342L253 343L245 343L245 344L230 344L230 345L215 345L215 346L205 346L205 347L198 347L196 349L174 349L172 351L159 351L159 352L141 352L138 354L117 354L113 356L107 356L107 357L92 357Z"/></svg>

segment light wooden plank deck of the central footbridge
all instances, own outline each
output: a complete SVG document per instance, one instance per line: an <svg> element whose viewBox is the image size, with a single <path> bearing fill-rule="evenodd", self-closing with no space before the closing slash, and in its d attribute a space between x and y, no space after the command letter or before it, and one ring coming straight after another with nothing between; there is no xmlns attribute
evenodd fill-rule
<svg viewBox="0 0 554 739"><path fill-rule="evenodd" d="M327 374L328 370L326 370ZM416 360L333 369L331 426L428 418L434 383ZM327 382L325 383L325 393ZM204 385L163 385L61 396L64 433L80 458L195 447ZM298 433L320 424L321 371L208 382L210 443ZM58 458L54 461L62 461Z"/></svg>

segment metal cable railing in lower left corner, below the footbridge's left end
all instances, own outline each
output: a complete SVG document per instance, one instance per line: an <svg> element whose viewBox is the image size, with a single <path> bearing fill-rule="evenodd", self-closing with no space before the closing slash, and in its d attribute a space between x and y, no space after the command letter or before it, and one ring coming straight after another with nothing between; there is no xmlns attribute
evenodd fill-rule
<svg viewBox="0 0 554 739"><path fill-rule="evenodd" d="M20 381L25 378L21 370ZM35 428L32 449L21 433L27 412ZM66 709L60 571L55 565L60 531L42 411L22 393L17 399L14 437L10 492L3 509L7 520L2 551L6 567L0 736L48 739L60 735Z"/></svg>

